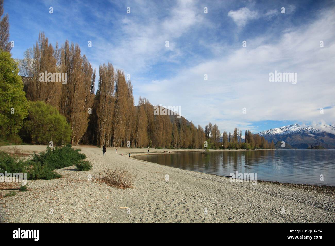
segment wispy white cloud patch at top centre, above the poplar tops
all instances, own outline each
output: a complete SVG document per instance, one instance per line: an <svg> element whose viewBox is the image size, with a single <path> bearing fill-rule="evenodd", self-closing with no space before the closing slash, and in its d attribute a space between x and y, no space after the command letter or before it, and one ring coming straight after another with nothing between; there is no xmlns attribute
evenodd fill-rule
<svg viewBox="0 0 335 246"><path fill-rule="evenodd" d="M137 6L136 11L147 11L145 4ZM135 11L135 10L134 10ZM96 60L101 57L113 59L113 65L124 68L130 73L148 70L162 57L165 61L174 61L183 55L177 39L187 33L197 24L205 24L203 15L192 1L178 1L177 5L167 9L165 18L159 12L152 11L150 15L132 17L124 15L120 30L122 36L116 36L113 43L101 40ZM143 22L143 20L145 20ZM169 47L165 47L169 41Z"/></svg>

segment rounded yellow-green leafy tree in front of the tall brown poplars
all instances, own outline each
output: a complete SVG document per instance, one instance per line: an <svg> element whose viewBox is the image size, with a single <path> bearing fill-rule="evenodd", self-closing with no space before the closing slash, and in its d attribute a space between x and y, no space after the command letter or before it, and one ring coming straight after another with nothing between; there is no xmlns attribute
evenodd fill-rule
<svg viewBox="0 0 335 246"><path fill-rule="evenodd" d="M71 127L58 110L42 101L29 102L29 114L24 122L24 130L33 142L55 145L71 142Z"/></svg>

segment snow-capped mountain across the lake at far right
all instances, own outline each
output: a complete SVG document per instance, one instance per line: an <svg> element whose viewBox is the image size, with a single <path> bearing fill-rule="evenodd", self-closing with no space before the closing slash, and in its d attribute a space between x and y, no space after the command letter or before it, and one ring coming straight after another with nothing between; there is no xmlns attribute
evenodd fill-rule
<svg viewBox="0 0 335 246"><path fill-rule="evenodd" d="M328 124L316 124L315 126L292 124L258 134L275 143L285 141L285 144L296 149L307 149L314 146L335 149L335 127Z"/></svg>

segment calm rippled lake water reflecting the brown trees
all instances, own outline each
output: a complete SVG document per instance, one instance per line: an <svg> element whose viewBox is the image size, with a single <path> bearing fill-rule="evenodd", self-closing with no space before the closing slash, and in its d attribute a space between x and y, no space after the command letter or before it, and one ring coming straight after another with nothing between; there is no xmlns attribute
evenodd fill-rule
<svg viewBox="0 0 335 246"><path fill-rule="evenodd" d="M258 180L335 186L335 150L179 152L136 156L165 166L226 176L257 173ZM323 174L324 181L320 181Z"/></svg>

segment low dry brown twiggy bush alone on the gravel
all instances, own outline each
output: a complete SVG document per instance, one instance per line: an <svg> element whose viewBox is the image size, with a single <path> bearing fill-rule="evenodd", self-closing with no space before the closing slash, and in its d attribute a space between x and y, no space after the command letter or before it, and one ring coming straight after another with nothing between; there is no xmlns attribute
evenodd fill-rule
<svg viewBox="0 0 335 246"><path fill-rule="evenodd" d="M102 182L109 186L118 187L121 189L132 188L133 182L132 178L128 171L124 168L115 169L115 171L108 169L103 170L99 174L99 178Z"/></svg>

